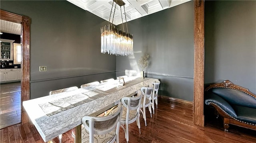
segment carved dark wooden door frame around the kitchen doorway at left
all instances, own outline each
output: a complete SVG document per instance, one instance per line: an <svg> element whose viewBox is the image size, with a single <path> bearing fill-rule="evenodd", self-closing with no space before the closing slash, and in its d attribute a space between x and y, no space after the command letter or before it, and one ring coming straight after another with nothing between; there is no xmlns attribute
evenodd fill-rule
<svg viewBox="0 0 256 143"><path fill-rule="evenodd" d="M0 10L0 19L19 23L22 26L21 109L23 112L22 102L30 99L30 18Z"/></svg>

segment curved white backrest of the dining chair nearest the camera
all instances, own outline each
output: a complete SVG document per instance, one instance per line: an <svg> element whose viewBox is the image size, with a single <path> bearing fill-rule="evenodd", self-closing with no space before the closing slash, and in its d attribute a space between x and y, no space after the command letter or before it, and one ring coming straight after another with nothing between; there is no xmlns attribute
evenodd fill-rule
<svg viewBox="0 0 256 143"><path fill-rule="evenodd" d="M120 127L120 120L122 117L122 104L119 102L118 110L114 114L96 117L96 116L84 116L82 118L82 123L87 131L89 131L90 143L94 142L94 134L102 135L110 133L113 129L116 128L116 137L115 139L118 142L118 134Z"/></svg>

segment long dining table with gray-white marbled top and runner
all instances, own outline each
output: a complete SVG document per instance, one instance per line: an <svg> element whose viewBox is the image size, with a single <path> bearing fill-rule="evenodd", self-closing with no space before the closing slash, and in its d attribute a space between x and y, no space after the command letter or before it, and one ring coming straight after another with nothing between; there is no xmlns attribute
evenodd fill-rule
<svg viewBox="0 0 256 143"><path fill-rule="evenodd" d="M45 142L75 127L75 142L81 143L84 116L98 116L117 105L123 97L136 95L141 87L156 80L128 77L124 79L125 84L120 80L104 82L97 86L26 100L22 105Z"/></svg>

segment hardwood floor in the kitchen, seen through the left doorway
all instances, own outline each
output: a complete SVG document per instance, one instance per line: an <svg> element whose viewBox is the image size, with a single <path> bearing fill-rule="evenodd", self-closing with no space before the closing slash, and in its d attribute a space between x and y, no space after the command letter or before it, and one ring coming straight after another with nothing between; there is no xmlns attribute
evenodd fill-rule
<svg viewBox="0 0 256 143"><path fill-rule="evenodd" d="M21 122L20 82L0 84L0 129Z"/></svg>

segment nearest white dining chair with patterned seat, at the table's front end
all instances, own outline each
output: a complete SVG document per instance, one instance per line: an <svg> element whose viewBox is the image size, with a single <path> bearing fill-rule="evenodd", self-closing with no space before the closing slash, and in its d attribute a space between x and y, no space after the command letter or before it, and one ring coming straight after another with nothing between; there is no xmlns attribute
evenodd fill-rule
<svg viewBox="0 0 256 143"><path fill-rule="evenodd" d="M119 128L122 104L118 110L108 116L84 116L82 118L82 143L119 143Z"/></svg>

